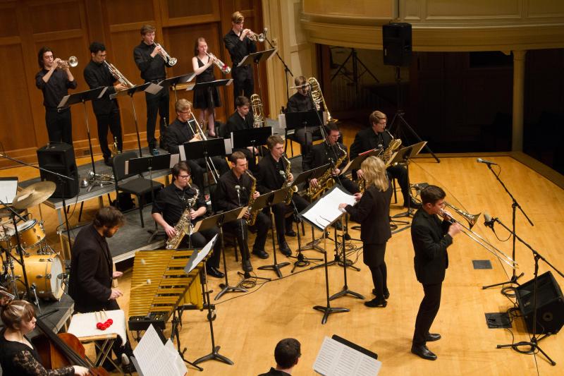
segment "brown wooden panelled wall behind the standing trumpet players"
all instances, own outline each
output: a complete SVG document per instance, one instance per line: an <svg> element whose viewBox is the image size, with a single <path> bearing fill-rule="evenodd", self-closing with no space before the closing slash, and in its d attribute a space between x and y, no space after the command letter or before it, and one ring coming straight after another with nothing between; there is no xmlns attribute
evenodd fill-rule
<svg viewBox="0 0 564 376"><path fill-rule="evenodd" d="M223 46L223 35L231 30L231 14L242 11L245 27L262 30L262 3L260 0L14 0L0 1L0 58L9 61L0 71L4 91L0 92L0 142L4 150L25 162L37 162L35 150L47 143L43 97L35 87L39 71L37 51L51 47L57 57L77 56L79 65L72 68L78 82L75 92L87 90L83 70L90 61L91 42L106 45L108 61L113 63L130 81L140 84L140 72L133 61L133 49L140 43L140 28L149 23L157 28L157 42L161 43L178 63L167 71L168 77L192 71L194 42L197 37L207 39L210 51L228 64L228 52ZM259 48L262 48L260 46ZM266 77L266 68L261 68ZM216 69L216 78L223 74ZM226 78L231 78L227 75ZM257 74L255 73L255 82ZM255 83L255 87L258 85ZM266 80L263 83L266 87ZM192 99L191 92L179 92L178 97ZM170 114L175 95L171 92ZM233 112L233 88L221 90L223 107L216 110L216 118L226 121ZM135 95L119 100L125 148L137 147L135 117L142 146L146 145L145 96ZM263 102L268 108L268 93ZM86 111L86 117L85 117ZM90 153L87 140L87 122L90 127L94 154L99 154L97 122L91 104L71 109L75 154ZM0 168L13 162L0 160Z"/></svg>

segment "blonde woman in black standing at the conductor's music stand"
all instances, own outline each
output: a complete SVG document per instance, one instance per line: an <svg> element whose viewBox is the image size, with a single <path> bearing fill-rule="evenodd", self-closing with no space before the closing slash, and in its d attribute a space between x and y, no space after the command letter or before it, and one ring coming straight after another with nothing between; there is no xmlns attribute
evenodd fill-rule
<svg viewBox="0 0 564 376"><path fill-rule="evenodd" d="M392 190L386 176L386 165L381 159L368 157L362 162L361 168L366 181L364 194L355 193L355 198L359 201L357 205L339 204L339 209L346 210L353 221L360 223L363 260L372 273L372 292L376 295L376 298L364 302L364 305L384 308L388 304L386 299L390 296L384 255L386 242L392 236L389 217Z"/></svg>

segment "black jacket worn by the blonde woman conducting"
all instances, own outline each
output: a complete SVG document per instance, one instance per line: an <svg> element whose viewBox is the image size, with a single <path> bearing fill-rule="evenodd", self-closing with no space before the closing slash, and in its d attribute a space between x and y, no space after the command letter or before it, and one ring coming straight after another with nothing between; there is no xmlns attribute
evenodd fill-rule
<svg viewBox="0 0 564 376"><path fill-rule="evenodd" d="M360 240L367 244L384 244L391 238L390 201L391 185L388 190L380 192L375 186L364 191L357 205L347 205L345 210L353 221L360 223Z"/></svg>

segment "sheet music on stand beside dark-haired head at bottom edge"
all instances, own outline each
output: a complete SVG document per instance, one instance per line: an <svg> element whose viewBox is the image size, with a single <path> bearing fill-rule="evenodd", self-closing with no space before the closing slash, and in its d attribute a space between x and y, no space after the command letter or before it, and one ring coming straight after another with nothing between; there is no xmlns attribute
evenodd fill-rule
<svg viewBox="0 0 564 376"><path fill-rule="evenodd" d="M381 365L379 360L326 336L313 369L324 376L374 376Z"/></svg>

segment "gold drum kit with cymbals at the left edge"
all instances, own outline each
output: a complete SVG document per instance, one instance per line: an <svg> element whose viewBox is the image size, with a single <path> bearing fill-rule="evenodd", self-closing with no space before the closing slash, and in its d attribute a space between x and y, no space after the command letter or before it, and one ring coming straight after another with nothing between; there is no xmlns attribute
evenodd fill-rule
<svg viewBox="0 0 564 376"><path fill-rule="evenodd" d="M47 200L56 188L52 181L40 181L21 190L12 205L0 210L0 249L2 273L18 296L18 284L37 297L59 300L63 296L66 278L65 265L59 253L47 245L42 221L30 219L19 212Z"/></svg>

